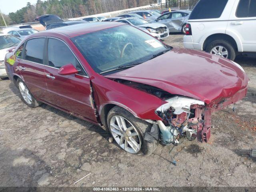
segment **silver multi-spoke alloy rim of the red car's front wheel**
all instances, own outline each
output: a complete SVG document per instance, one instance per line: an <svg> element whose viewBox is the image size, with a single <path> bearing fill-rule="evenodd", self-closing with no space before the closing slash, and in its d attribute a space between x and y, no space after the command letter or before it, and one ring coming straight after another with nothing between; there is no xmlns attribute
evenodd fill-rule
<svg viewBox="0 0 256 192"><path fill-rule="evenodd" d="M122 116L110 119L110 131L119 146L129 153L138 153L141 148L141 137L130 121Z"/></svg>

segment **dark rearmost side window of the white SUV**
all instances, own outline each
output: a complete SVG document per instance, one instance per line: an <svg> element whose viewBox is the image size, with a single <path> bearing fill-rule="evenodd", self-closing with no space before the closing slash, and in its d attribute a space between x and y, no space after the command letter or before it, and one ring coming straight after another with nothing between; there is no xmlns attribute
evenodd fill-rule
<svg viewBox="0 0 256 192"><path fill-rule="evenodd" d="M189 19L220 18L228 0L200 0L194 7Z"/></svg>

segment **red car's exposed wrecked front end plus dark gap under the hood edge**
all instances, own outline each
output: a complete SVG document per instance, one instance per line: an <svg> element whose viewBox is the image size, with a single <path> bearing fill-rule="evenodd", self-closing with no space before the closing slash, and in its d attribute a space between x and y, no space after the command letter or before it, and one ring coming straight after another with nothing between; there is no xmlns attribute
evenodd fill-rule
<svg viewBox="0 0 256 192"><path fill-rule="evenodd" d="M115 81L148 92L166 101L166 104L156 109L156 114L162 118L162 121L157 121L162 144L178 144L182 137L186 137L188 140L198 138L200 142L208 142L210 118L205 120L205 117L210 110L206 110L204 102L176 96L146 84L122 79L115 79ZM205 127L207 128L205 129Z"/></svg>

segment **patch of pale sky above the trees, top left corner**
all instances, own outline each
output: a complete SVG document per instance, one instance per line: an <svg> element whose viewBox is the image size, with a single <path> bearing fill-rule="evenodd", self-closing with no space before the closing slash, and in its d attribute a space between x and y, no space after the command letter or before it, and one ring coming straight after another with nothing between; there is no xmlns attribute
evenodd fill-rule
<svg viewBox="0 0 256 192"><path fill-rule="evenodd" d="M37 0L0 0L0 9L2 13L8 15L10 12L16 12L27 5L27 2L36 4Z"/></svg>

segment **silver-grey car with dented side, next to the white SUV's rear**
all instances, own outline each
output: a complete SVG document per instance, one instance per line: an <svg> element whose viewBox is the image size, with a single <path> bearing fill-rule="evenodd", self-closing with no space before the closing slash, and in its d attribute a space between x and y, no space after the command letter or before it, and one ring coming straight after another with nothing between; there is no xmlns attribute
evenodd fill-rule
<svg viewBox="0 0 256 192"><path fill-rule="evenodd" d="M165 24L170 32L186 33L186 22L191 11L178 10L167 12L159 16L154 22Z"/></svg>

